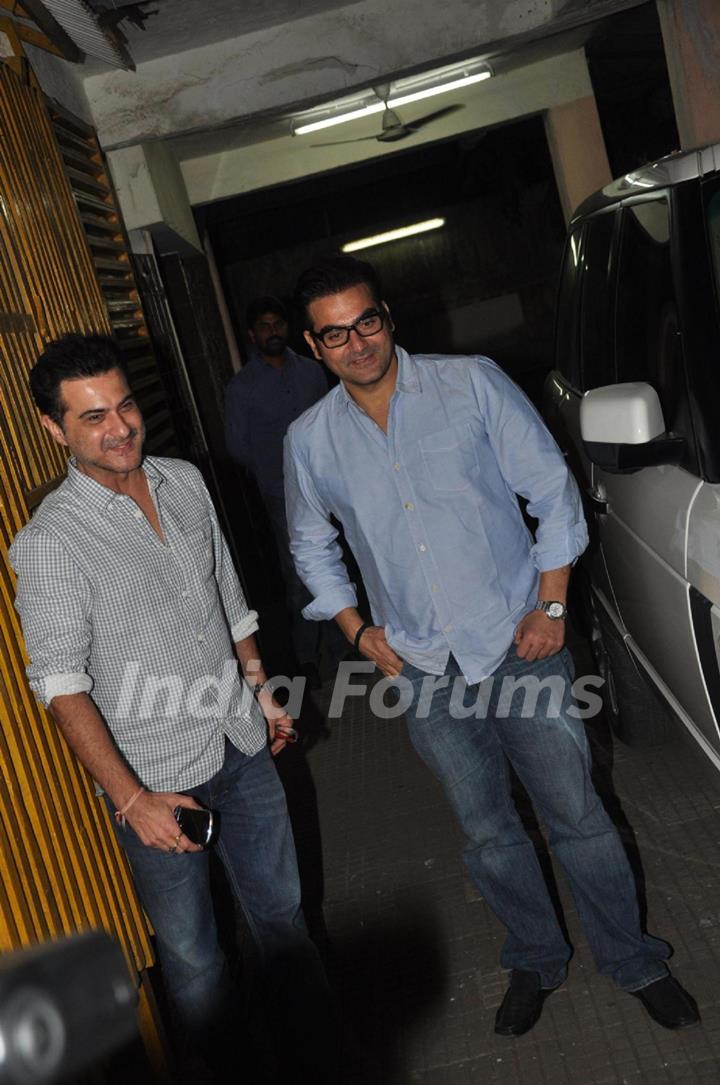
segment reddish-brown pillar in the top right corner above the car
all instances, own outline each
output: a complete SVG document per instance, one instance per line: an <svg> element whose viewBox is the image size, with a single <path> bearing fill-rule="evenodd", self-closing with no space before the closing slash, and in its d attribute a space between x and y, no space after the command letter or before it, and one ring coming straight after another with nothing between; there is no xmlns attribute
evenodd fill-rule
<svg viewBox="0 0 720 1085"><path fill-rule="evenodd" d="M680 146L720 142L720 4L657 0Z"/></svg>

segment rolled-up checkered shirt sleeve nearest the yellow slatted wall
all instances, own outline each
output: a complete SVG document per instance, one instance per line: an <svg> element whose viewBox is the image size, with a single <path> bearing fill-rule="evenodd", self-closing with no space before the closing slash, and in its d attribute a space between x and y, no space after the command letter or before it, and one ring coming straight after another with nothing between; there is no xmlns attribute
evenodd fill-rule
<svg viewBox="0 0 720 1085"><path fill-rule="evenodd" d="M59 540L31 525L15 539L10 560L30 689L46 707L54 697L90 692L92 589L82 571Z"/></svg>

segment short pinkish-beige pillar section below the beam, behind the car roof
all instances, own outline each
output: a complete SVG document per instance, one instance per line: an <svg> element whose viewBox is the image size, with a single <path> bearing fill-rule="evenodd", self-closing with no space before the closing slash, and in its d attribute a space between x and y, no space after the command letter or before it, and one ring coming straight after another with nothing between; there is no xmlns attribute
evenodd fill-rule
<svg viewBox="0 0 720 1085"><path fill-rule="evenodd" d="M565 221L596 189L612 180L594 94L545 113L545 135Z"/></svg>

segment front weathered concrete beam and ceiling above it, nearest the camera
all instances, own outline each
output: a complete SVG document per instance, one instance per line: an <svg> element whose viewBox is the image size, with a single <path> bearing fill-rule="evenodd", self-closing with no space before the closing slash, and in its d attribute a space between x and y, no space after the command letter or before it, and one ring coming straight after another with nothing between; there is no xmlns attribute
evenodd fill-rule
<svg viewBox="0 0 720 1085"><path fill-rule="evenodd" d="M85 90L106 150L178 139L175 150L184 158L218 149L215 135L205 149L198 139L183 146L184 137L236 126L230 139L239 145L248 124L272 126L290 113L464 58L504 63L518 49L642 0L157 2L157 21L145 31L123 24L138 71L89 75ZM265 25L248 30L252 18ZM266 129L260 138L270 135Z"/></svg>

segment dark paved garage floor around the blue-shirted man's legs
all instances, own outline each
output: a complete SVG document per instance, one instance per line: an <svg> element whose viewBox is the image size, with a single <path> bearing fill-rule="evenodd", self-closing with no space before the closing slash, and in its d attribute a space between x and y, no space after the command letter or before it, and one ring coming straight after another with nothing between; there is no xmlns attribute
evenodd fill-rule
<svg viewBox="0 0 720 1085"><path fill-rule="evenodd" d="M327 687L316 694L319 710L327 695ZM720 1081L720 774L690 740L613 749L602 722L591 728L603 796L635 866L642 859L647 929L673 945L673 970L703 1024L668 1032L595 973L561 877L575 946L569 979L530 1033L505 1039L492 1031L506 982L502 931L465 876L459 832L402 720L377 720L357 700L329 729L320 713L307 729L344 1083ZM305 794L307 815L311 789ZM317 843L311 829L298 840L316 899Z"/></svg>

